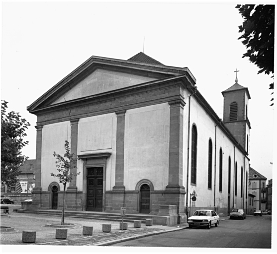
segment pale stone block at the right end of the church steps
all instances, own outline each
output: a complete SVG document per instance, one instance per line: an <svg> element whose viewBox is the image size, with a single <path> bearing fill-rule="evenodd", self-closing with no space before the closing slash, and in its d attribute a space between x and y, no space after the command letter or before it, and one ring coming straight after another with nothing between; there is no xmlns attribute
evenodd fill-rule
<svg viewBox="0 0 277 254"><path fill-rule="evenodd" d="M153 216L155 225L171 226L178 223L178 214L176 205L160 205L159 213Z"/></svg>

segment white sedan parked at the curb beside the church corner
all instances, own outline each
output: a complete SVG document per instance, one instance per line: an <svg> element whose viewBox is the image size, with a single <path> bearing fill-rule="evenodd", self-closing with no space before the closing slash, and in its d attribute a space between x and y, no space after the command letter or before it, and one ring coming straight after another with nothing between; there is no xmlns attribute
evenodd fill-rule
<svg viewBox="0 0 277 254"><path fill-rule="evenodd" d="M187 219L189 228L193 226L205 226L207 229L210 229L211 225L217 227L219 221L220 218L214 210L197 210Z"/></svg>

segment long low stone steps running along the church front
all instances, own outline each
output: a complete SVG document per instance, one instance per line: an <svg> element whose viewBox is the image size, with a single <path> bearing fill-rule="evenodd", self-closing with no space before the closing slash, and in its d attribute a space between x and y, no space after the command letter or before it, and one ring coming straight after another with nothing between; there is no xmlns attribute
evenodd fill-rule
<svg viewBox="0 0 277 254"><path fill-rule="evenodd" d="M19 212L17 210L17 212ZM41 214L48 216L61 216L61 210L22 210L23 213L31 214ZM83 219L93 219L93 220L109 220L109 221L122 221L122 216L118 213L107 213L107 212L90 212L90 211L65 211L66 217L76 217ZM125 222L134 222L134 220L140 220L145 223L146 219L153 219L151 214L126 214L124 216Z"/></svg>

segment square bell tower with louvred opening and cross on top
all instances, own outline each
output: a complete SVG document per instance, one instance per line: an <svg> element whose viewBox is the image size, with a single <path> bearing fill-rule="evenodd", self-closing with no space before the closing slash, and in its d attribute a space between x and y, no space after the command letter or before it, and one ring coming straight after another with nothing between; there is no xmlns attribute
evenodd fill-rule
<svg viewBox="0 0 277 254"><path fill-rule="evenodd" d="M238 73L239 70L235 72ZM250 122L248 120L248 100L251 99L248 88L238 83L222 92L224 97L223 123L249 154Z"/></svg>

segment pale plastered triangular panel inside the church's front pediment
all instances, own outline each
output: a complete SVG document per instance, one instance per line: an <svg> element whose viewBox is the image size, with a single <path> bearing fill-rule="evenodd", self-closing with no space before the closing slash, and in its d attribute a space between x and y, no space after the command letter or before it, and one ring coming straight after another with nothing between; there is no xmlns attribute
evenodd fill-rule
<svg viewBox="0 0 277 254"><path fill-rule="evenodd" d="M142 84L152 80L155 80L155 78L106 69L96 69L72 89L61 95L51 105Z"/></svg>

